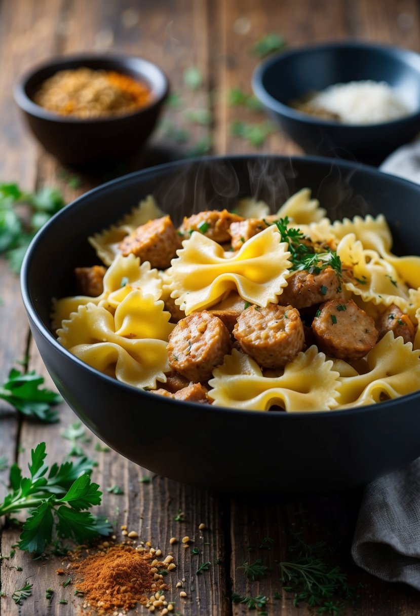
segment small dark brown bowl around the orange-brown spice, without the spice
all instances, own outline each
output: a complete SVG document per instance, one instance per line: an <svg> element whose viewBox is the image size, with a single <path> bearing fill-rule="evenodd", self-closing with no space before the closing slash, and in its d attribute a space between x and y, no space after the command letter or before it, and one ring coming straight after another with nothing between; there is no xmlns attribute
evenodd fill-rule
<svg viewBox="0 0 420 616"><path fill-rule="evenodd" d="M87 67L113 70L147 84L151 100L137 111L103 118L80 119L48 111L33 102L42 82L60 70ZM62 163L85 166L126 160L138 152L155 128L168 79L152 62L123 55L71 55L30 70L15 86L15 100L34 136Z"/></svg>

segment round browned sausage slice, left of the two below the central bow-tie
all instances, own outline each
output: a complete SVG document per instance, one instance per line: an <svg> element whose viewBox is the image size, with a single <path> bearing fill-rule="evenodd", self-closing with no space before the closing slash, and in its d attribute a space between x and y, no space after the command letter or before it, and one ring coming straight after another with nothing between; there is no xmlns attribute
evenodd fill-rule
<svg viewBox="0 0 420 616"><path fill-rule="evenodd" d="M230 333L219 317L203 310L180 320L166 348L172 370L193 383L208 381L231 351Z"/></svg>

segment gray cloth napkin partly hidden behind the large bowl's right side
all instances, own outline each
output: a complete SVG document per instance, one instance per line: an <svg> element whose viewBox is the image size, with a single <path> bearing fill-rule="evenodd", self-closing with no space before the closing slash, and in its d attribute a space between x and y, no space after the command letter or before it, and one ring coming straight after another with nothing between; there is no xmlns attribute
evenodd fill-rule
<svg viewBox="0 0 420 616"><path fill-rule="evenodd" d="M398 148L379 169L420 184L420 140ZM420 590L420 458L365 488L352 557L381 580Z"/></svg>

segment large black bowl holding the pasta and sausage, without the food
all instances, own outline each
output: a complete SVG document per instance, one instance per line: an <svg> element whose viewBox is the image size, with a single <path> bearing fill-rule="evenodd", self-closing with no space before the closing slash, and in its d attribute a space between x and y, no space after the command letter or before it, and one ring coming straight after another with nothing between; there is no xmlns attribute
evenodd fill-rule
<svg viewBox="0 0 420 616"><path fill-rule="evenodd" d="M350 410L285 413L179 402L101 374L50 330L54 297L73 294L73 268L97 262L87 237L152 194L175 222L254 195L272 209L312 188L330 216L384 213L395 251L419 252L420 186L323 158L205 158L146 169L96 188L36 235L22 269L23 302L41 357L79 418L130 460L172 479L228 491L326 492L370 482L420 455L420 392Z"/></svg>

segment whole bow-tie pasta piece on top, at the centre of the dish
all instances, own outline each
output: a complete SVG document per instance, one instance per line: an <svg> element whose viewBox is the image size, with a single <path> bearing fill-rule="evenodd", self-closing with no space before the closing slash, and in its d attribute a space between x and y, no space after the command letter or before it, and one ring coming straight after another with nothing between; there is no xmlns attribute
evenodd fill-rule
<svg viewBox="0 0 420 616"><path fill-rule="evenodd" d="M168 276L171 297L186 315L213 306L235 288L252 304L275 304L287 284L290 253L288 245L280 242L275 225L254 235L236 254L225 253L222 246L198 232L182 246Z"/></svg>

